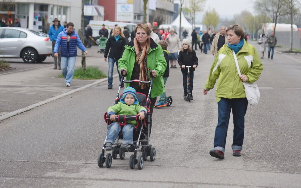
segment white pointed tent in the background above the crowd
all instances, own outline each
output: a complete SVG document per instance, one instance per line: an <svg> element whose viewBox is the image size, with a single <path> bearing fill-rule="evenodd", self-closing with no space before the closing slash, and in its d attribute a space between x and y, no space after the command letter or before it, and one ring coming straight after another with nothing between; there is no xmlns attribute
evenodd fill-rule
<svg viewBox="0 0 301 188"><path fill-rule="evenodd" d="M183 12L181 14L182 14L182 17L181 17L181 31L183 32L184 29L186 29L186 31L188 32L188 38L191 38L192 25L187 21L187 19L185 18ZM163 27L164 29L166 29L168 26L170 28L175 29L176 32L179 34L180 14L178 15L178 17L171 24L160 25L159 28Z"/></svg>

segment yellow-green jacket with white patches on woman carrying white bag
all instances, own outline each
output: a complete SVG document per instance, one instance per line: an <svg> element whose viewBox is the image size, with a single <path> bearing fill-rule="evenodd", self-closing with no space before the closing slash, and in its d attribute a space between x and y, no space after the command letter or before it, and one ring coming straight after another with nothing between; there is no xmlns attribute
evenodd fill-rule
<svg viewBox="0 0 301 188"><path fill-rule="evenodd" d="M255 47L245 40L236 56L240 72L247 76L247 82L253 83L258 80L263 67ZM220 97L228 99L246 97L244 85L237 73L232 50L228 44L224 44L217 53L204 89L207 91L213 89L216 79L218 79L215 92L217 102Z"/></svg>

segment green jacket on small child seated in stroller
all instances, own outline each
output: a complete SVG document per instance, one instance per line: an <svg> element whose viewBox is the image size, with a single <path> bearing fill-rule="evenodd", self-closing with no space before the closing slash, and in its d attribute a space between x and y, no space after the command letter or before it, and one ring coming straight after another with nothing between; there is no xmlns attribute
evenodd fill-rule
<svg viewBox="0 0 301 188"><path fill-rule="evenodd" d="M108 109L108 114L116 114L116 115L136 115L141 111L145 111L147 113L146 108L140 106L139 103L136 105L127 105L122 102L118 102L116 105L110 106ZM113 112L113 113L112 113ZM127 123L132 124L134 127L137 125L137 121L127 121Z"/></svg>

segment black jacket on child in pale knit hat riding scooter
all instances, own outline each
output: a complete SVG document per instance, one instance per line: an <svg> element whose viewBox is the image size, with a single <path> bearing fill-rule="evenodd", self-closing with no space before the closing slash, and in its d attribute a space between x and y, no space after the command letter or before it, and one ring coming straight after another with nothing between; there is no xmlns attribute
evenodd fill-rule
<svg viewBox="0 0 301 188"><path fill-rule="evenodd" d="M192 52L188 52L187 50L184 50L184 52L180 51L178 56L178 63L180 66L191 66L190 71L194 71L194 68L192 68L193 65L198 65L198 59L197 54L194 50ZM182 72L187 72L187 68L181 68Z"/></svg>

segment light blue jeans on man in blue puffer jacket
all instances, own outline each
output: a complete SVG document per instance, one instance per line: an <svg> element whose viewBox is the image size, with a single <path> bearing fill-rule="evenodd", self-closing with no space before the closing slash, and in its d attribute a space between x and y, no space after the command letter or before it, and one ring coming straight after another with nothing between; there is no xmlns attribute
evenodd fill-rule
<svg viewBox="0 0 301 188"><path fill-rule="evenodd" d="M74 74L76 56L73 57L61 57L61 68L66 83L71 83Z"/></svg>

